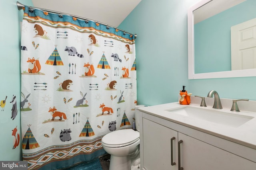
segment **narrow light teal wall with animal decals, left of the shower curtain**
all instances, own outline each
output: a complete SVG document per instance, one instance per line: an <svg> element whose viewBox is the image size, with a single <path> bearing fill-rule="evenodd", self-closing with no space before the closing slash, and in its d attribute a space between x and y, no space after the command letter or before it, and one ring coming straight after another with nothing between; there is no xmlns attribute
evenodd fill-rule
<svg viewBox="0 0 256 170"><path fill-rule="evenodd" d="M19 11L16 0L0 0L0 14L3 23L0 27L0 72L1 88L0 101L6 99L2 111L0 107L1 145L0 160L21 160L21 140L18 147L12 149L14 137L12 130L17 126L20 133L20 22L23 10ZM32 6L31 0L19 0L20 3ZM4 23L5 22L5 23ZM18 115L14 120L12 116L12 96L16 96ZM21 133L20 133L21 136ZM20 137L21 138L21 137Z"/></svg>

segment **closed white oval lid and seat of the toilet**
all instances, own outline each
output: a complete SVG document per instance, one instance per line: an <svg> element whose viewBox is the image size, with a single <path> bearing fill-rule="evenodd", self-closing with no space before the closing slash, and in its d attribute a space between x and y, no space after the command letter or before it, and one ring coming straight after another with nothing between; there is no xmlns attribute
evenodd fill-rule
<svg viewBox="0 0 256 170"><path fill-rule="evenodd" d="M106 147L124 147L140 139L140 133L133 129L122 129L106 134L102 138L102 144Z"/></svg>

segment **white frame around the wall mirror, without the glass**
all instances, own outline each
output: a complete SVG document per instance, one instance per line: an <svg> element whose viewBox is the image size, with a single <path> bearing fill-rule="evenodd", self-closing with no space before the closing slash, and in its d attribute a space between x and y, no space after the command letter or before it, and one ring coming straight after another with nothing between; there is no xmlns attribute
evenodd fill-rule
<svg viewBox="0 0 256 170"><path fill-rule="evenodd" d="M256 76L256 69L208 72L195 74L194 72L194 17L193 11L212 0L201 0L188 9L188 79L229 78ZM210 63L209 63L210 64Z"/></svg>

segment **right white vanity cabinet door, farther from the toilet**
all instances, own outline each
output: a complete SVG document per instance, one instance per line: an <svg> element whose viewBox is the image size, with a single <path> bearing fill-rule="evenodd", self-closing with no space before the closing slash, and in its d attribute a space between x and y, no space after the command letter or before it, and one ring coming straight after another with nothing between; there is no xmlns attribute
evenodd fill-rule
<svg viewBox="0 0 256 170"><path fill-rule="evenodd" d="M256 163L178 133L184 170L255 170Z"/></svg>

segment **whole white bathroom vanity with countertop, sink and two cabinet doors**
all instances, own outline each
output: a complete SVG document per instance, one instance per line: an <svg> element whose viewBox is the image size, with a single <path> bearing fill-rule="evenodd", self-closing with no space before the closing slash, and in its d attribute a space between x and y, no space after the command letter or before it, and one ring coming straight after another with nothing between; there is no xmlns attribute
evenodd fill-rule
<svg viewBox="0 0 256 170"><path fill-rule="evenodd" d="M194 103L187 106L139 108L141 169L256 169L256 112L230 111L228 99L222 99L223 109L213 109L212 100L207 98L208 107L192 96ZM249 102L241 108L255 106Z"/></svg>

